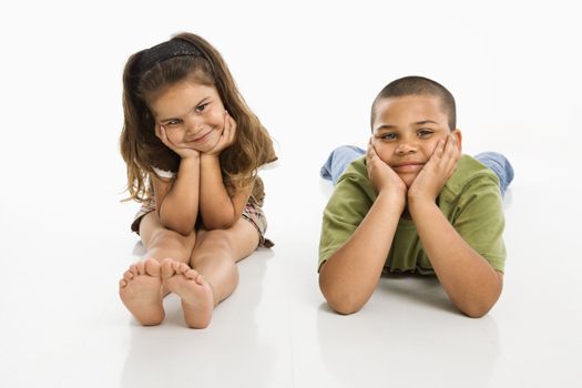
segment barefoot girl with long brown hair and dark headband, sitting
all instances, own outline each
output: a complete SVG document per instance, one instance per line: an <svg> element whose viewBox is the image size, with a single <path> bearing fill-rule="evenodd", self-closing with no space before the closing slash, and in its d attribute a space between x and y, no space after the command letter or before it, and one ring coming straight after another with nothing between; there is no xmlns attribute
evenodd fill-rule
<svg viewBox="0 0 582 388"><path fill-rule="evenodd" d="M192 33L130 57L123 109L127 190L142 203L132 231L147 253L123 274L121 299L159 325L176 293L186 324L204 328L236 287L236 262L273 245L257 176L276 160L272 140L221 54Z"/></svg>

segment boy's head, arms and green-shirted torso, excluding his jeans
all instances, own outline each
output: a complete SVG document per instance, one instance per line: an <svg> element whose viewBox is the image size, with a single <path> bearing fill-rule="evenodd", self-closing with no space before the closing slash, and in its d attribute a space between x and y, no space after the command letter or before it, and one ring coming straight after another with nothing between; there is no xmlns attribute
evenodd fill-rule
<svg viewBox="0 0 582 388"><path fill-rule="evenodd" d="M371 131L366 156L346 169L324 211L328 304L358 312L382 270L435 274L460 312L483 316L503 284L500 182L461 156L453 96L426 78L396 80L374 101Z"/></svg>

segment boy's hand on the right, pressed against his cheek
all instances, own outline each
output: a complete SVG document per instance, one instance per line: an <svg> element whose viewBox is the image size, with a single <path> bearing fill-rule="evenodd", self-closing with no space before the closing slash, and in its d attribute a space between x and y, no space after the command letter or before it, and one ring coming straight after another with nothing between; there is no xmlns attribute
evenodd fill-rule
<svg viewBox="0 0 582 388"><path fill-rule="evenodd" d="M455 135L439 141L429 161L408 188L409 203L428 201L435 203L445 183L457 169L461 150Z"/></svg>

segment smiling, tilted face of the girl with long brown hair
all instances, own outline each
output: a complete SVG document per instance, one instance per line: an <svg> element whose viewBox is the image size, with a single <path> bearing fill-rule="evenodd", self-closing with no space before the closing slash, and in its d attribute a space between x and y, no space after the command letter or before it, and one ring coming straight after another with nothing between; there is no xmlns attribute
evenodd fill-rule
<svg viewBox="0 0 582 388"><path fill-rule="evenodd" d="M214 86L181 81L152 95L149 106L155 124L180 147L207 152L224 130L224 105Z"/></svg>

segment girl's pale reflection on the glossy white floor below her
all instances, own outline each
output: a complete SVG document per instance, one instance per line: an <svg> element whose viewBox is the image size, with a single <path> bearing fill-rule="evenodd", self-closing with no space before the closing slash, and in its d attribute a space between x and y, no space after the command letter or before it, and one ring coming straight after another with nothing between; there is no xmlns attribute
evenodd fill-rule
<svg viewBox="0 0 582 388"><path fill-rule="evenodd" d="M268 344L257 336L255 314L265 261L252 255L238 264L239 285L215 309L207 329L186 328L175 295L164 300L166 318L162 325L141 327L132 320L122 386L267 387L273 357Z"/></svg>

